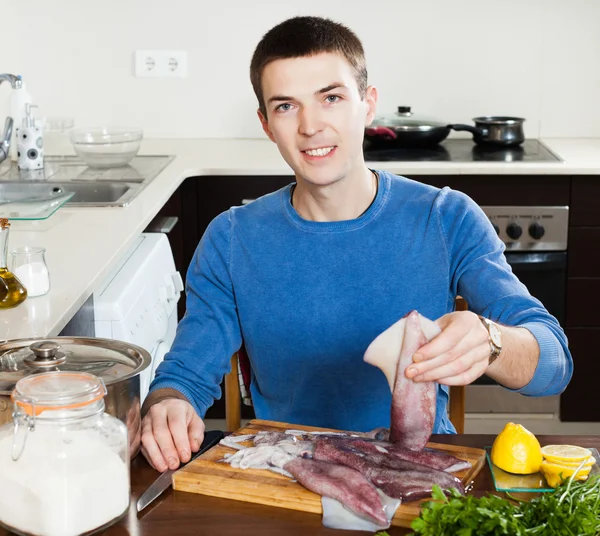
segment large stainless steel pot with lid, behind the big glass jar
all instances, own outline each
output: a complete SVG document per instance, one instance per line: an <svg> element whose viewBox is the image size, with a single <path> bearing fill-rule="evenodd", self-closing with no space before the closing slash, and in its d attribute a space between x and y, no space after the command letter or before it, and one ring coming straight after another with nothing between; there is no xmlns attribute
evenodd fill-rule
<svg viewBox="0 0 600 536"><path fill-rule="evenodd" d="M133 457L141 437L140 373L151 360L143 348L110 339L55 337L0 343L0 425L12 421L10 395L21 378L51 370L88 372L104 381L105 411L127 425Z"/></svg>

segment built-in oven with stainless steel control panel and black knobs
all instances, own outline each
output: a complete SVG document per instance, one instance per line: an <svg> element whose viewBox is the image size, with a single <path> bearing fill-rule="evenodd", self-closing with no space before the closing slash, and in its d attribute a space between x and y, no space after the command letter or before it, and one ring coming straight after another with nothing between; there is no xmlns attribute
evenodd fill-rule
<svg viewBox="0 0 600 536"><path fill-rule="evenodd" d="M564 327L569 209L481 207L506 245L505 257L530 294ZM559 414L560 395L531 398L482 376L466 388L467 413Z"/></svg>

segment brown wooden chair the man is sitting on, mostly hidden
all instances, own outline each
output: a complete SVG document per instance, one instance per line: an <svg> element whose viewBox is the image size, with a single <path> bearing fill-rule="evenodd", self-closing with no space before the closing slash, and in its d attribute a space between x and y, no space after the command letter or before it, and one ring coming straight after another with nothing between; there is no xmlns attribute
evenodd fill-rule
<svg viewBox="0 0 600 536"><path fill-rule="evenodd" d="M456 310L466 311L467 302L460 296L456 298ZM238 357L238 354L241 354ZM246 392L249 382L248 358L244 350L231 356L231 371L225 376L225 420L227 431L233 432L241 427L242 422L242 391L244 403L252 405L250 395ZM465 387L450 386L450 401L448 403L450 421L459 434L465 432Z"/></svg>

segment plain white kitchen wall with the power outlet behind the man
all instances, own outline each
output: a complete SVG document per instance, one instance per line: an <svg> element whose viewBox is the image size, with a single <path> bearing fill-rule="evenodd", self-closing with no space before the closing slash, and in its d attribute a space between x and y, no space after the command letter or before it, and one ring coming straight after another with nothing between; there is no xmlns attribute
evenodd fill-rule
<svg viewBox="0 0 600 536"><path fill-rule="evenodd" d="M600 137L600 0L0 0L0 14L0 72L23 75L42 115L77 125L263 137L253 48L314 14L363 40L380 112L520 115L529 137ZM133 52L161 48L188 51L188 78L133 76Z"/></svg>

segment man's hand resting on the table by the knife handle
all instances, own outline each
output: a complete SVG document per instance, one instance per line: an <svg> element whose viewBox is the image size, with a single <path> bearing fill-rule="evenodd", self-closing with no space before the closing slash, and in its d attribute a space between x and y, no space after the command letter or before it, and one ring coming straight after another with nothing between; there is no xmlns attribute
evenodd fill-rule
<svg viewBox="0 0 600 536"><path fill-rule="evenodd" d="M192 405L180 397L153 403L142 420L142 453L161 473L189 462L203 439L202 419Z"/></svg>

